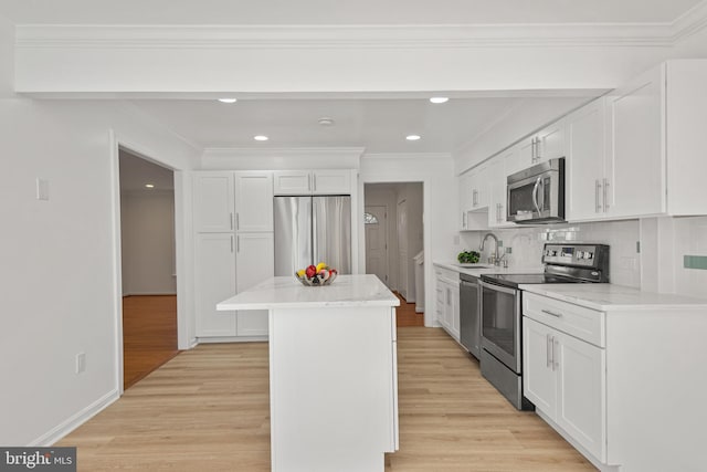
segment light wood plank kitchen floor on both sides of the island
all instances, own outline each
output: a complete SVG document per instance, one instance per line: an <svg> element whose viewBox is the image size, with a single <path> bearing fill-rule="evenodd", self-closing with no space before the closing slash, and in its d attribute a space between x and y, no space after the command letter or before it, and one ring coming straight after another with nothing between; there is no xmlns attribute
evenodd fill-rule
<svg viewBox="0 0 707 472"><path fill-rule="evenodd" d="M531 412L515 410L440 328L398 329L400 450L387 471L591 471ZM200 345L57 445L80 471L268 471L267 344Z"/></svg>

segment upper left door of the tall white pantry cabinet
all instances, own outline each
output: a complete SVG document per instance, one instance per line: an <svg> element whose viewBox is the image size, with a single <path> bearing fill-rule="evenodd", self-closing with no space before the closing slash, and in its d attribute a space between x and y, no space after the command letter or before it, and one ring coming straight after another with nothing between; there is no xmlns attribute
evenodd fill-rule
<svg viewBox="0 0 707 472"><path fill-rule="evenodd" d="M235 201L233 172L204 171L194 175L194 231L233 231Z"/></svg>

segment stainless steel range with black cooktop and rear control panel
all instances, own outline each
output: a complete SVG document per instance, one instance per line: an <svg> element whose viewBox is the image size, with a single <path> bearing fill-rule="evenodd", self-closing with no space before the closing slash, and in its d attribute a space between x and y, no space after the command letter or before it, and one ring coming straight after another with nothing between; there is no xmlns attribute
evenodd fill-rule
<svg viewBox="0 0 707 472"><path fill-rule="evenodd" d="M534 409L523 396L523 284L609 282L609 247L546 244L540 274L482 275L482 375L517 409Z"/></svg>

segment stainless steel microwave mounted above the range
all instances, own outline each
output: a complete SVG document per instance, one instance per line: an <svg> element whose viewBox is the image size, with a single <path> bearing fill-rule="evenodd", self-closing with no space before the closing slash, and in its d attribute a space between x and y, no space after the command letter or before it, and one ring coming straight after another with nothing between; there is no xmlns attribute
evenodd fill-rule
<svg viewBox="0 0 707 472"><path fill-rule="evenodd" d="M508 176L508 221L564 221L564 158L550 159Z"/></svg>

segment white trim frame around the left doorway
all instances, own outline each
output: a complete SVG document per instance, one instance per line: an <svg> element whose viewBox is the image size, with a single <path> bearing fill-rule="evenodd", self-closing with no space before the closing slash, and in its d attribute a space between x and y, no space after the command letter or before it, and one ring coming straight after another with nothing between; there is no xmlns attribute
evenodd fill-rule
<svg viewBox="0 0 707 472"><path fill-rule="evenodd" d="M187 253L186 233L184 233L184 186L181 181L181 171L175 169L169 164L155 158L156 153L143 148L129 139L118 136L115 130L109 130L110 143L110 199L112 199L112 220L113 220L113 296L114 303L114 323L115 323L115 368L116 368L116 389L118 396L123 396L124 388L124 353L123 353L123 250L122 250L122 227L120 227L120 149L125 149L130 154L155 162L161 167L170 169L175 179L175 261L177 274L177 348L188 349L191 346L189 336L189 324L187 313L187 287L184 274L187 273Z"/></svg>

